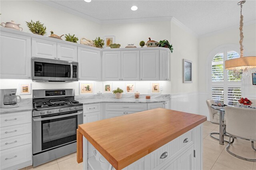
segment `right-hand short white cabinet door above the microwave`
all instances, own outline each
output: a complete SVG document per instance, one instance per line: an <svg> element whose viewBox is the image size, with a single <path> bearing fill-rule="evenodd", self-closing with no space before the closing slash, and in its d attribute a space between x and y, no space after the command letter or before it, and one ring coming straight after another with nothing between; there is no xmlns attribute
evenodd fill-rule
<svg viewBox="0 0 256 170"><path fill-rule="evenodd" d="M57 43L57 58L65 61L77 62L77 47L64 43Z"/></svg>

